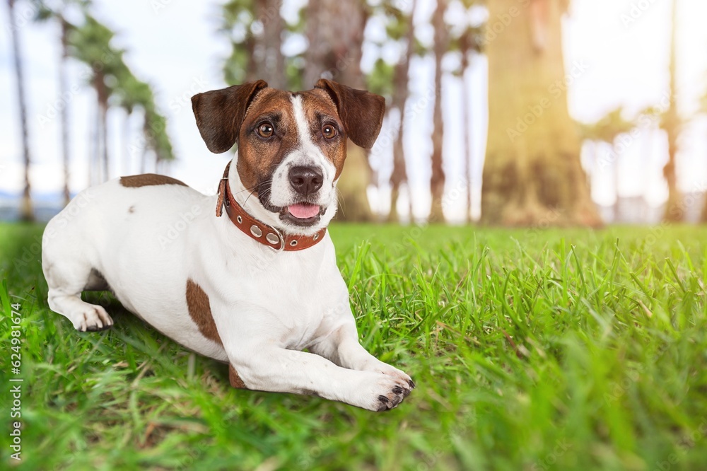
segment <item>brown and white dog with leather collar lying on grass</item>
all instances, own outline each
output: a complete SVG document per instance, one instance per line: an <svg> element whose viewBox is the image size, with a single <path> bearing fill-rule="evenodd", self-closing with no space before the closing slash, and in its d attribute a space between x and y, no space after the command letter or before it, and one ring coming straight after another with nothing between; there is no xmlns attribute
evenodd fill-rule
<svg viewBox="0 0 707 471"><path fill-rule="evenodd" d="M346 139L373 146L384 98L259 80L194 95L192 109L209 151L238 144L218 194L154 174L78 194L42 238L49 307L81 332L107 329L81 292L110 289L164 335L228 362L235 388L396 407L414 382L358 343L327 232Z"/></svg>

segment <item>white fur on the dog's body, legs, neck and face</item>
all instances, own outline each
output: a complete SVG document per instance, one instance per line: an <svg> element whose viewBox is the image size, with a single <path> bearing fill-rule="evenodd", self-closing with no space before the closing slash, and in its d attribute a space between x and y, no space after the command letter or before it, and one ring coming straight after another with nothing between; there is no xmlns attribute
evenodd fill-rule
<svg viewBox="0 0 707 471"><path fill-rule="evenodd" d="M333 193L327 158L306 132L300 139L302 153L293 158L318 161ZM236 199L257 219L288 229L256 197L246 198L236 168L234 159ZM312 248L276 252L225 214L216 217L215 209L216 197L181 185L134 188L112 180L81 192L45 229L49 307L78 330L112 325L102 307L81 301L81 291L105 288L95 276L100 272L125 308L185 347L230 362L250 389L313 392L371 410L395 407L404 397L395 391L407 395L410 378L358 344L329 234ZM319 225L301 232L317 231L335 211L333 201ZM201 335L189 316L187 279L209 296L223 347Z"/></svg>

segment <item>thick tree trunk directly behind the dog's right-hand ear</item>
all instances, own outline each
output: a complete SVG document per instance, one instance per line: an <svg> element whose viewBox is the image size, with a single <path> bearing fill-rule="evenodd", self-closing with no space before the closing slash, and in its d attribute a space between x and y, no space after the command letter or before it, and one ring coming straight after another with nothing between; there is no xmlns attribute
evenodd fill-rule
<svg viewBox="0 0 707 471"><path fill-rule="evenodd" d="M362 1L309 0L304 71L305 88L320 78L363 89L361 45L368 16ZM371 182L366 153L349 142L339 184L339 214L344 221L370 221L373 214L366 190Z"/></svg>

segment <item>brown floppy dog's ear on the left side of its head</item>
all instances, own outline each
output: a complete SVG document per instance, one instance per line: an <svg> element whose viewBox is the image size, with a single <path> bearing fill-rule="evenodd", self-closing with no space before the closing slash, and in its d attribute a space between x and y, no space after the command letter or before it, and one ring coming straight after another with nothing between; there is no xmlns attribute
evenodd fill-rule
<svg viewBox="0 0 707 471"><path fill-rule="evenodd" d="M209 151L222 153L233 147L248 105L266 87L267 82L258 80L192 96L199 134Z"/></svg>

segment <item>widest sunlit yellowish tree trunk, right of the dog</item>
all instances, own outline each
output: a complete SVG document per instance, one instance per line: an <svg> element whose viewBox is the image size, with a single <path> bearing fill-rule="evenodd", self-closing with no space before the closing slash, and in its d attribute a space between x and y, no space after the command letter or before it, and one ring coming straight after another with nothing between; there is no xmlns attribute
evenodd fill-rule
<svg viewBox="0 0 707 471"><path fill-rule="evenodd" d="M487 47L489 139L481 218L505 225L599 226L567 108L562 56L563 0L489 1L489 18L518 16ZM579 76L584 65L573 64Z"/></svg>

